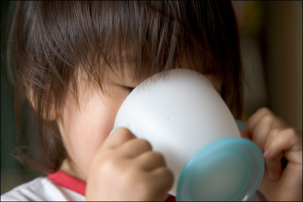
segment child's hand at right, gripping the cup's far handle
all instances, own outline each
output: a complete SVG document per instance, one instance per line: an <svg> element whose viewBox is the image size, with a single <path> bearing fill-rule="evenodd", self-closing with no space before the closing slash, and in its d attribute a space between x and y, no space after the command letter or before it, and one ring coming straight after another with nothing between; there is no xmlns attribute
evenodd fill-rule
<svg viewBox="0 0 303 202"><path fill-rule="evenodd" d="M265 172L258 190L266 199L302 201L302 132L262 108L247 120L241 135L254 141L263 152ZM284 169L282 158L287 161Z"/></svg>

